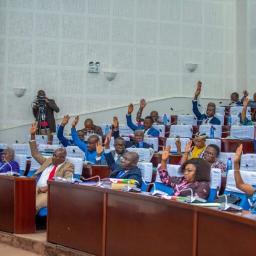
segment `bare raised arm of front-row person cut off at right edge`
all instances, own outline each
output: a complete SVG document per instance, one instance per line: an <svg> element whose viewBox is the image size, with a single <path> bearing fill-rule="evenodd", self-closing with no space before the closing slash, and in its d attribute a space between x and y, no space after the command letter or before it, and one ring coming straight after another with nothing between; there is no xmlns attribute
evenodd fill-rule
<svg viewBox="0 0 256 256"><path fill-rule="evenodd" d="M235 178L235 184L238 189L243 191L244 193L247 193L249 195L253 195L255 189L249 185L243 182L243 179L240 174L240 159L242 154L242 144L237 148L234 156L234 178Z"/></svg>

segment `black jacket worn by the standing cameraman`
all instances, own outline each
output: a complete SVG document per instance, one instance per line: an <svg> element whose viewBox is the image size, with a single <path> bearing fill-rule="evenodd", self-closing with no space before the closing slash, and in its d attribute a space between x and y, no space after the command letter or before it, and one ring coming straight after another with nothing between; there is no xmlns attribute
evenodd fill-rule
<svg viewBox="0 0 256 256"><path fill-rule="evenodd" d="M48 104L46 104L45 117L46 117L46 120L48 122L50 131L52 133L56 133L56 123L55 123L53 111L58 113L60 111L60 109L56 105L54 99L48 99L48 100L50 102ZM38 109L33 108L33 114L34 114L35 118L37 118L38 117Z"/></svg>

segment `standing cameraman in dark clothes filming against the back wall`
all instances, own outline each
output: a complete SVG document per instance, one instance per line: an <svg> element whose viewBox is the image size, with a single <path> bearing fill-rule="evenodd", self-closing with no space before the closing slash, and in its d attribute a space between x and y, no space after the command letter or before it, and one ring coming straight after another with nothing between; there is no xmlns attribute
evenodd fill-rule
<svg viewBox="0 0 256 256"><path fill-rule="evenodd" d="M38 124L40 127L39 134L40 135L47 135L48 136L48 141L50 140L50 136L52 133L56 133L56 124L55 124L55 119L54 119L54 113L58 113L60 109L56 105L54 99L48 99L46 97L45 91L44 90L39 90L37 92L37 99L34 101L33 105L33 114L38 120L38 115L39 115L39 108L43 108L43 114L41 116L41 127L40 123ZM45 133L45 128L46 128L46 133Z"/></svg>

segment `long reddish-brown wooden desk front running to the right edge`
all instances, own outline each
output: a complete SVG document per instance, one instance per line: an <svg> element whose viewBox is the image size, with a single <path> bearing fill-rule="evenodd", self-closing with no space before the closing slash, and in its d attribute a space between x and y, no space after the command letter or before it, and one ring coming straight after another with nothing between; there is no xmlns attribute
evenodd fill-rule
<svg viewBox="0 0 256 256"><path fill-rule="evenodd" d="M47 241L109 256L251 254L255 220L145 193L48 184Z"/></svg>

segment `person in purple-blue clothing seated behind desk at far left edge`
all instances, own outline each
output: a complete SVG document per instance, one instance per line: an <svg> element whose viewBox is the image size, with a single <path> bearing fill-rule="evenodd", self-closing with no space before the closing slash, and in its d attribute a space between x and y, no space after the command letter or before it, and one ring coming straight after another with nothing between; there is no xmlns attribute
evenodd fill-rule
<svg viewBox="0 0 256 256"><path fill-rule="evenodd" d="M17 172L19 173L20 167L19 164L14 161L15 152L11 148L7 148L2 152L0 163L0 173L7 173L7 172Z"/></svg>

